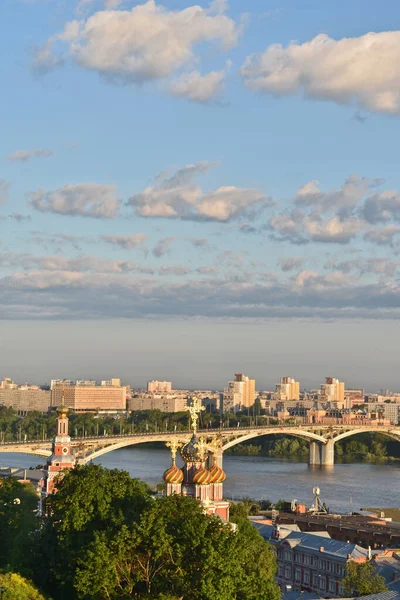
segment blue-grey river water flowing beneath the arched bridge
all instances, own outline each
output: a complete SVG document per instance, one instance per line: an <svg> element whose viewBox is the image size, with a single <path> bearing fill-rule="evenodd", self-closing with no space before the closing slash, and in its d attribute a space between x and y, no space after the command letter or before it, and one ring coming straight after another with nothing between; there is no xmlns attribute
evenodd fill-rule
<svg viewBox="0 0 400 600"><path fill-rule="evenodd" d="M0 465L29 468L43 459L26 454L0 453ZM162 482L171 465L167 449L131 446L114 450L94 461L110 469L125 469L151 485ZM261 456L226 456L224 493L238 500L245 496L277 502L283 498L307 505L312 489L321 489L321 500L332 511L348 512L361 507L400 507L400 461L395 463L336 464L310 467L292 459Z"/></svg>

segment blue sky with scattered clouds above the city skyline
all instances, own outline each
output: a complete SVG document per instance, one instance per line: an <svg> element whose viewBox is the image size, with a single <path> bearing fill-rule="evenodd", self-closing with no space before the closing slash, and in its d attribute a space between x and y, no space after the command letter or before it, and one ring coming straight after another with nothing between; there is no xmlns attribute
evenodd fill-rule
<svg viewBox="0 0 400 600"><path fill-rule="evenodd" d="M400 390L398 2L0 23L0 376Z"/></svg>

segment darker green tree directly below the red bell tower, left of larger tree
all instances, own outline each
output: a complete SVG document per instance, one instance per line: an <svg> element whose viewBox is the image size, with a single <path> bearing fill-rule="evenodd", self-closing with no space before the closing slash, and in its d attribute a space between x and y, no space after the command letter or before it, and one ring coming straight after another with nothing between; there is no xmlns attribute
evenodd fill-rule
<svg viewBox="0 0 400 600"><path fill-rule="evenodd" d="M32 551L38 562L34 558L31 569L40 587L71 600L76 569L99 535L108 546L153 500L148 486L127 472L94 464L67 471L57 487L57 494L47 498L48 517Z"/></svg>

